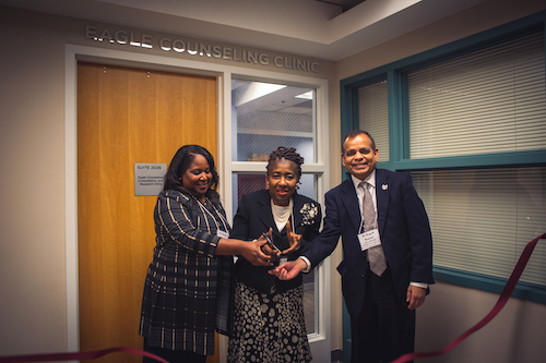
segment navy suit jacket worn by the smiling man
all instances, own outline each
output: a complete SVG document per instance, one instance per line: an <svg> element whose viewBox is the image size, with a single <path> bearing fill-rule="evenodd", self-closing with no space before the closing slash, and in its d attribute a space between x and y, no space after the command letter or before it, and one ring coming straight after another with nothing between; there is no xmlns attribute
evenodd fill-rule
<svg viewBox="0 0 546 363"><path fill-rule="evenodd" d="M434 283L432 237L423 202L410 174L376 170L378 227L396 297L405 303L410 282ZM348 313L357 316L364 302L367 262L358 242L361 216L349 178L325 194L324 227L304 255L312 267L332 253L340 235L343 297Z"/></svg>

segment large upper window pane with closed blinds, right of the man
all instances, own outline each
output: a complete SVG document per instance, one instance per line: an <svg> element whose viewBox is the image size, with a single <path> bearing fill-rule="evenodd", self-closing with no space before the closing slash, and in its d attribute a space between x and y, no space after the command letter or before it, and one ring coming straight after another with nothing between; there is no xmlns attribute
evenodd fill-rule
<svg viewBox="0 0 546 363"><path fill-rule="evenodd" d="M410 158L546 149L544 74L544 31L410 72Z"/></svg>

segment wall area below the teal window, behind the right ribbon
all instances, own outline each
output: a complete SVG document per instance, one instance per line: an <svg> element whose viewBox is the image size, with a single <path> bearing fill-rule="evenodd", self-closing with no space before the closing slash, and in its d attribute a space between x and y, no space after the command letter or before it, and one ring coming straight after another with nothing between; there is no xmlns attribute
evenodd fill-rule
<svg viewBox="0 0 546 363"><path fill-rule="evenodd" d="M495 306L496 293L438 281L417 313L416 350L435 352L482 320ZM427 363L538 363L546 356L546 306L510 299L480 330L449 353Z"/></svg>

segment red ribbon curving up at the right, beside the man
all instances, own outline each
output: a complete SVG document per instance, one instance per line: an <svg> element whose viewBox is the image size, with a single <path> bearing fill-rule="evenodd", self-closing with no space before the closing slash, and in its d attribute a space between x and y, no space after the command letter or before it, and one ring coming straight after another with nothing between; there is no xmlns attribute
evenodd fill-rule
<svg viewBox="0 0 546 363"><path fill-rule="evenodd" d="M508 302L508 299L510 299L510 295L513 292L513 289L515 288L515 285L520 280L521 274L523 273L523 269L527 265L529 258L531 257L531 254L533 253L533 250L535 249L536 243L538 240L545 239L546 233L538 235L536 239L533 241L529 242L523 252L521 253L520 259L518 261L518 264L515 265L512 275L510 275L510 278L508 279L507 285L505 286L505 290L502 290L502 293L499 297L499 300L492 306L491 311L489 314L486 315L478 324L474 325L472 328L463 332L459 338L453 340L452 342L449 343L446 348L442 350L436 351L436 352L424 352L424 353L407 353L404 354L391 363L404 363L412 361L414 359L418 358L429 358L429 356L437 356L437 355L442 355L455 348L461 341L466 339L470 335L476 332L477 330L482 329L484 326L486 326L495 316L497 316L498 313L505 307L506 303Z"/></svg>

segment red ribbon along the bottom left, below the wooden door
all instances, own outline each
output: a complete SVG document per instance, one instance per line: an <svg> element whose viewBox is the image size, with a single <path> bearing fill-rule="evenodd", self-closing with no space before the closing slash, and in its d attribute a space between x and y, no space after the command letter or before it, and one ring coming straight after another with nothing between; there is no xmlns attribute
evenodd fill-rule
<svg viewBox="0 0 546 363"><path fill-rule="evenodd" d="M32 362L55 362L55 361L80 361L80 360L94 360L110 353L131 353L139 354L142 356L149 356L156 360L157 362L169 363L163 358L152 354L150 352L144 352L142 350L133 348L109 348L105 350L97 350L91 352L74 352L74 353L50 353L50 354L35 354L35 355L12 355L12 356L0 356L0 363L32 363Z"/></svg>

